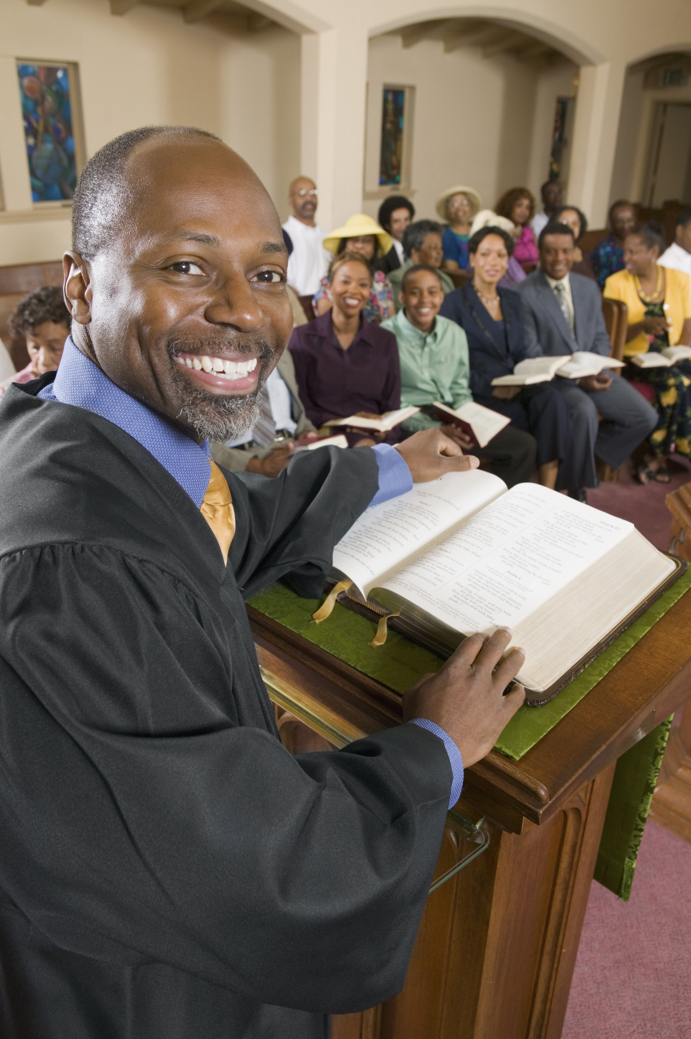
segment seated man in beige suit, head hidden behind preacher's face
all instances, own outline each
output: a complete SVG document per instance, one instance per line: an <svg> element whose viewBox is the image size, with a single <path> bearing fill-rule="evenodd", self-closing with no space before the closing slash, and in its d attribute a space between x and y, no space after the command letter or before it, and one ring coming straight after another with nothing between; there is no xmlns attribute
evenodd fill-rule
<svg viewBox="0 0 691 1039"><path fill-rule="evenodd" d="M285 350L260 394L261 412L246 436L227 444L211 445L211 457L231 473L248 470L277 476L292 457L296 437L317 436L297 393L295 368L290 350Z"/></svg>

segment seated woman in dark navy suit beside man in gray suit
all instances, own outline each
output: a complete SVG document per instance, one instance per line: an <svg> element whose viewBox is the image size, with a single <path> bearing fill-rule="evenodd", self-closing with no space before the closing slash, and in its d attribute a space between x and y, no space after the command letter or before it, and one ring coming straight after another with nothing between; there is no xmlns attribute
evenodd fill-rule
<svg viewBox="0 0 691 1039"><path fill-rule="evenodd" d="M440 314L456 321L468 337L473 397L533 434L543 486L572 487L574 426L561 394L552 382L491 385L494 378L510 375L514 365L533 355L525 342L521 296L497 288L506 273L513 239L500 228L482 228L471 238L468 251L473 278L444 297Z"/></svg>

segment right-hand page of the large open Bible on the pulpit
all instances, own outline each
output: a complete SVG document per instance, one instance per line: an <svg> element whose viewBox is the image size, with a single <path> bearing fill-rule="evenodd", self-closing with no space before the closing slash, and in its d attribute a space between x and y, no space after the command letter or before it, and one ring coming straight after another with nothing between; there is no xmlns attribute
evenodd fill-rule
<svg viewBox="0 0 691 1039"><path fill-rule="evenodd" d="M634 529L521 483L382 583L457 632L513 628Z"/></svg>

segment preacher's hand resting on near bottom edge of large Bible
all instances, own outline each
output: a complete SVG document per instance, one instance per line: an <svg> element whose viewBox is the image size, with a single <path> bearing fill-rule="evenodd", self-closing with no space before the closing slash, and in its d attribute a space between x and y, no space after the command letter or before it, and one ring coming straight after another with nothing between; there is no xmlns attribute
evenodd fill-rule
<svg viewBox="0 0 691 1039"><path fill-rule="evenodd" d="M470 635L440 668L426 674L403 694L403 717L427 718L448 732L469 768L488 754L497 739L523 703L526 691L516 685L504 690L525 660L513 647L507 628L493 636Z"/></svg>

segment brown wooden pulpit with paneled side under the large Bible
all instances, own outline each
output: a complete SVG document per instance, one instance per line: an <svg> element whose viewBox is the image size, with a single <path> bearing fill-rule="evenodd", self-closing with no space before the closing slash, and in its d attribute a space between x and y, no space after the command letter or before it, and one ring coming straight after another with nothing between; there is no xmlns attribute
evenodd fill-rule
<svg viewBox="0 0 691 1039"><path fill-rule="evenodd" d="M402 720L401 697L247 608L291 750ZM520 762L491 751L449 812L403 990L334 1039L558 1039L618 755L691 696L691 592Z"/></svg>

